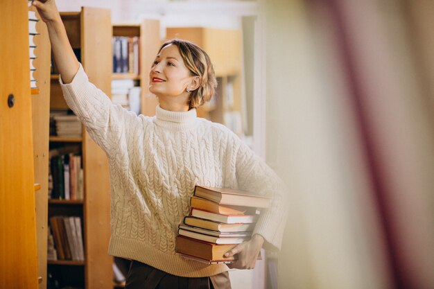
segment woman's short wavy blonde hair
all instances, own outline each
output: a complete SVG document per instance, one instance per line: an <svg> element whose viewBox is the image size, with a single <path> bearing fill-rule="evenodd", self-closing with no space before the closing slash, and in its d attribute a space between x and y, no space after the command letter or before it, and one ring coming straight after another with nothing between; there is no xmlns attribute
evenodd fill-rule
<svg viewBox="0 0 434 289"><path fill-rule="evenodd" d="M164 47L173 44L180 51L182 60L193 76L199 76L199 87L191 91L189 108L197 108L211 100L217 88L216 73L208 54L193 42L174 39L164 42L158 53ZM157 54L158 54L157 53Z"/></svg>

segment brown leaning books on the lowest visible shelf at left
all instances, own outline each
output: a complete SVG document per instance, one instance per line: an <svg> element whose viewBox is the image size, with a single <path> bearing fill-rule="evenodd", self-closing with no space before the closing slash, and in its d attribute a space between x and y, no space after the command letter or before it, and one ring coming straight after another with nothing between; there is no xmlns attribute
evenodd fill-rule
<svg viewBox="0 0 434 289"><path fill-rule="evenodd" d="M52 216L49 222L47 259L85 261L81 218Z"/></svg>

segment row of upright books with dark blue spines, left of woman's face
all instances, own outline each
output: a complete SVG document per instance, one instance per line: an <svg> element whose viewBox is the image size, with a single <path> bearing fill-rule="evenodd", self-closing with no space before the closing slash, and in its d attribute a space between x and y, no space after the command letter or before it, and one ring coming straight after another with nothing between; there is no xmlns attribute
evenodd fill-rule
<svg viewBox="0 0 434 289"><path fill-rule="evenodd" d="M113 73L139 74L139 37L112 37Z"/></svg>

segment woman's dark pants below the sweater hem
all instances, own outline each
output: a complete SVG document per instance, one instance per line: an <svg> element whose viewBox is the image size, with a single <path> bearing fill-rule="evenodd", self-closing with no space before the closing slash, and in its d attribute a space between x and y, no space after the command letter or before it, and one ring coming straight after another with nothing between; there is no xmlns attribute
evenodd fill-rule
<svg viewBox="0 0 434 289"><path fill-rule="evenodd" d="M125 289L231 289L229 273L188 278L168 274L139 261L131 261Z"/></svg>

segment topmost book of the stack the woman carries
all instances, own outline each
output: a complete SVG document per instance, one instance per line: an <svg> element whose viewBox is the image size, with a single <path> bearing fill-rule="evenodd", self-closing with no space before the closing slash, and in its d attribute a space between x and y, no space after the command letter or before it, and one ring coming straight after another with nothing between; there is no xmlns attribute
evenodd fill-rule
<svg viewBox="0 0 434 289"><path fill-rule="evenodd" d="M268 208L270 206L270 198L237 189L196 186L194 195L218 204L257 208Z"/></svg>

